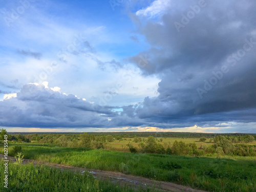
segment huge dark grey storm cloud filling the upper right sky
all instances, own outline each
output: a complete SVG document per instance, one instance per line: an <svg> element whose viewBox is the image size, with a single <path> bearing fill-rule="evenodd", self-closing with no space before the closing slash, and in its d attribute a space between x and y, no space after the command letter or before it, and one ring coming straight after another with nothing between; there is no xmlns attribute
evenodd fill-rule
<svg viewBox="0 0 256 192"><path fill-rule="evenodd" d="M143 26L140 17L132 15L151 45L142 53L148 63L141 70L161 78L159 96L145 98L134 113L149 124L254 122L256 2L205 1L203 7L199 2L204 1L173 1L161 22L148 20ZM177 23L182 27L177 28ZM138 67L140 54L130 57ZM219 115L222 112L225 116Z"/></svg>

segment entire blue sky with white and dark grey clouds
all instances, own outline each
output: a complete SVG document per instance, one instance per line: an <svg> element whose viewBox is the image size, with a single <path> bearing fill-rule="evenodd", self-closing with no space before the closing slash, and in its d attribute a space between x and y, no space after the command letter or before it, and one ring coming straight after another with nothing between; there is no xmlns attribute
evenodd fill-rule
<svg viewBox="0 0 256 192"><path fill-rule="evenodd" d="M0 5L0 128L256 133L255 1Z"/></svg>

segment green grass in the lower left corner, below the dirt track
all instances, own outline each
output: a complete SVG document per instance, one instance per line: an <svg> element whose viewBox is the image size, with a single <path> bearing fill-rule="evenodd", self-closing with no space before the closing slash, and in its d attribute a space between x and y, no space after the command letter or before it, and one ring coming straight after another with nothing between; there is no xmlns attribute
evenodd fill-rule
<svg viewBox="0 0 256 192"><path fill-rule="evenodd" d="M112 192L134 192L154 191L154 189L132 189L129 186L119 186L110 181L98 181L90 174L78 174L66 170L59 170L49 166L34 166L9 164L8 188L4 187L4 162L0 161L0 188L1 191L59 191L59 192L81 192L81 191L112 191Z"/></svg>

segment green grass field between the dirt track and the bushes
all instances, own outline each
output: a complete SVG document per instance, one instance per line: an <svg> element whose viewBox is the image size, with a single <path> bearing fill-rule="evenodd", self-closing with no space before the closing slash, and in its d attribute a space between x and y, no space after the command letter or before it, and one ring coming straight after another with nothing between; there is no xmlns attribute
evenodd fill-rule
<svg viewBox="0 0 256 192"><path fill-rule="evenodd" d="M9 146L12 151L12 146ZM0 150L3 154L3 150ZM111 170L208 191L256 191L255 157L188 157L23 145L24 158Z"/></svg>

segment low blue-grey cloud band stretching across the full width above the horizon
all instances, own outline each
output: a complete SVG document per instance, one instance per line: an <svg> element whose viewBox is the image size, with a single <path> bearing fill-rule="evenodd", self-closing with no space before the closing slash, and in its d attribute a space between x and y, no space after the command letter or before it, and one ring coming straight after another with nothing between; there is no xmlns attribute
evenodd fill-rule
<svg viewBox="0 0 256 192"><path fill-rule="evenodd" d="M120 108L100 106L76 95L67 95L58 87L48 87L48 82L29 83L17 94L6 94L4 100L0 101L0 126L25 127L27 130L31 127L67 131L102 129L104 131L225 132L229 129L231 132L236 130L244 133L253 133L256 128L255 109L215 113L210 117L176 115L170 118L168 114L163 117L161 111L158 111L159 108L152 103L143 104L147 108L151 106L152 109L145 113L144 106L138 103L122 106L122 110L116 110ZM154 116L150 116L151 113L155 113ZM227 117L237 121L227 121ZM243 131L240 127L243 127Z"/></svg>

